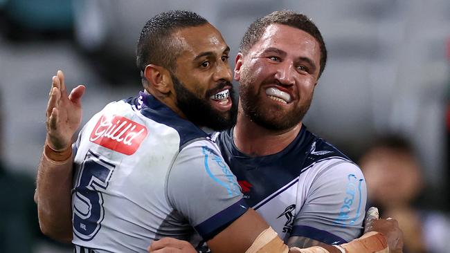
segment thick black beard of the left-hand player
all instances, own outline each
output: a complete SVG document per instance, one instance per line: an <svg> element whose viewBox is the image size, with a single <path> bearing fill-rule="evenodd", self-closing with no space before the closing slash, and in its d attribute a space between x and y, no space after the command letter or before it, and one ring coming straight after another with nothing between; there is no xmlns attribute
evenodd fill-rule
<svg viewBox="0 0 450 253"><path fill-rule="evenodd" d="M199 98L190 92L180 81L173 75L172 81L174 89L177 93L177 106L186 115L186 118L199 127L208 127L214 131L223 131L233 127L237 118L237 103L235 102L233 85L231 82L223 82L218 84L214 89L208 90L204 98ZM210 96L214 95L220 88L230 86L230 99L233 103L231 109L222 113L209 104Z"/></svg>

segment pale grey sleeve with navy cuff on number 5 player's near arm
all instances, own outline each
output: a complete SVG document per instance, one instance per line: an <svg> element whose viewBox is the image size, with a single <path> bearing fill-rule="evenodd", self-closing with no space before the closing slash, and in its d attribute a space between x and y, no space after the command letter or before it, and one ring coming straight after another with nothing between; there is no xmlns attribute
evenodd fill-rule
<svg viewBox="0 0 450 253"><path fill-rule="evenodd" d="M168 174L167 196L205 241L249 209L217 146L206 140L180 151Z"/></svg>

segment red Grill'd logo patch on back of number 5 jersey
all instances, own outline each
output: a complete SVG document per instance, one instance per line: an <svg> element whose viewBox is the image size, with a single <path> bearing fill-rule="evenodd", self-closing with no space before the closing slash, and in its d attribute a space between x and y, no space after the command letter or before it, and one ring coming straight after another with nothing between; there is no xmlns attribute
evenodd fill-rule
<svg viewBox="0 0 450 253"><path fill-rule="evenodd" d="M147 129L119 115L102 115L94 127L89 140L102 147L125 155L132 155L147 136Z"/></svg>

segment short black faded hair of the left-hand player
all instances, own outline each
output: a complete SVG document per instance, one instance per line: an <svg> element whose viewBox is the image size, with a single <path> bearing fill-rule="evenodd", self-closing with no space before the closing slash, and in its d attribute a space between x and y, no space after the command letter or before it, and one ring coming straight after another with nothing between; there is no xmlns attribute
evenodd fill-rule
<svg viewBox="0 0 450 253"><path fill-rule="evenodd" d="M172 37L182 28L201 26L208 21L195 12L170 10L156 15L142 28L136 50L136 64L143 75L145 66L155 64L174 71L180 48Z"/></svg>

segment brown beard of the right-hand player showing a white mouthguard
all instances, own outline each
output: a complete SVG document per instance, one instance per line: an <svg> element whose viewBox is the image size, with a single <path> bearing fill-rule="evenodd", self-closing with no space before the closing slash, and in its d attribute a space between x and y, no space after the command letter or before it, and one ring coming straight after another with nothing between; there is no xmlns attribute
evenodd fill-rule
<svg viewBox="0 0 450 253"><path fill-rule="evenodd" d="M303 104L285 112L282 105L272 104L269 107L269 105L264 104L259 97L260 92L264 92L265 95L265 91L261 89L257 91L255 85L252 85L251 82L249 82L250 80L251 78L249 79L246 78L246 75L242 75L240 79L239 95L242 111L244 111L246 117L251 121L255 122L260 127L264 127L264 129L271 131L285 131L295 127L303 120L303 117L305 117L305 114L311 105L313 93L307 97L307 100L305 100Z"/></svg>

